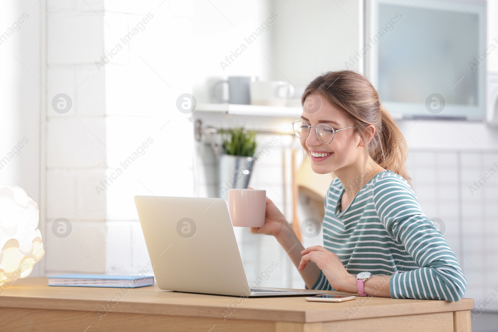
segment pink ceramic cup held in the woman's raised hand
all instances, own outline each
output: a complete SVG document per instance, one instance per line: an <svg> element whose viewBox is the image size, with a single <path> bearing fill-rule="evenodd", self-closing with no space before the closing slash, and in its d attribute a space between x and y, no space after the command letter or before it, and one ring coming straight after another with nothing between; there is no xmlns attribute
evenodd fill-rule
<svg viewBox="0 0 498 332"><path fill-rule="evenodd" d="M230 189L228 208L234 226L262 227L266 213L266 190Z"/></svg>

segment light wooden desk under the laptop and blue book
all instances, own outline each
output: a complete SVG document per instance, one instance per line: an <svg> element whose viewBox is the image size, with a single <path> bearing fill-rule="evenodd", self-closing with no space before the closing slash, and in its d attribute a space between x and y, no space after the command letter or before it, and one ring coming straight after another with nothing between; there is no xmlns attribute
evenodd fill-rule
<svg viewBox="0 0 498 332"><path fill-rule="evenodd" d="M233 309L229 311L227 306ZM0 330L468 332L471 309L473 299L357 297L355 301L319 303L307 302L304 297L243 299L177 293L161 291L155 285L135 289L53 287L47 286L47 278L26 278L1 293Z"/></svg>

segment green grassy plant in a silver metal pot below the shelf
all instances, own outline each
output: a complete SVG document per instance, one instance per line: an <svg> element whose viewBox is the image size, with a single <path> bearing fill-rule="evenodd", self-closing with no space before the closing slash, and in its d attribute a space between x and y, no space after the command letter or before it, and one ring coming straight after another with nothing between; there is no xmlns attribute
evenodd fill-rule
<svg viewBox="0 0 498 332"><path fill-rule="evenodd" d="M223 137L218 164L219 196L228 199L230 189L247 189L256 158L256 132L244 127L220 130Z"/></svg>

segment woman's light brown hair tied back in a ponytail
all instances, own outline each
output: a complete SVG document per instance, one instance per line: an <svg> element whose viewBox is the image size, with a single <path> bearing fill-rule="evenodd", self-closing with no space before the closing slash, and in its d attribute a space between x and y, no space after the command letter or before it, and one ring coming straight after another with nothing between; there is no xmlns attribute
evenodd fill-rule
<svg viewBox="0 0 498 332"><path fill-rule="evenodd" d="M406 140L389 112L380 105L378 93L366 77L351 70L328 72L308 84L301 98L302 105L310 94L324 97L350 117L373 161L410 182L405 166L408 156ZM367 144L366 127L369 124L373 124L376 130Z"/></svg>

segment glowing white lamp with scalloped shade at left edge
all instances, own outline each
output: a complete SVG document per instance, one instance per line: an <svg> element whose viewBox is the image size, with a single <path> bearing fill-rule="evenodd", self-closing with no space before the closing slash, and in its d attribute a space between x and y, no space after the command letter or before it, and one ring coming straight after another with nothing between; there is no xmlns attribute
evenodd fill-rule
<svg viewBox="0 0 498 332"><path fill-rule="evenodd" d="M45 250L38 206L20 187L0 185L0 286L27 277Z"/></svg>

